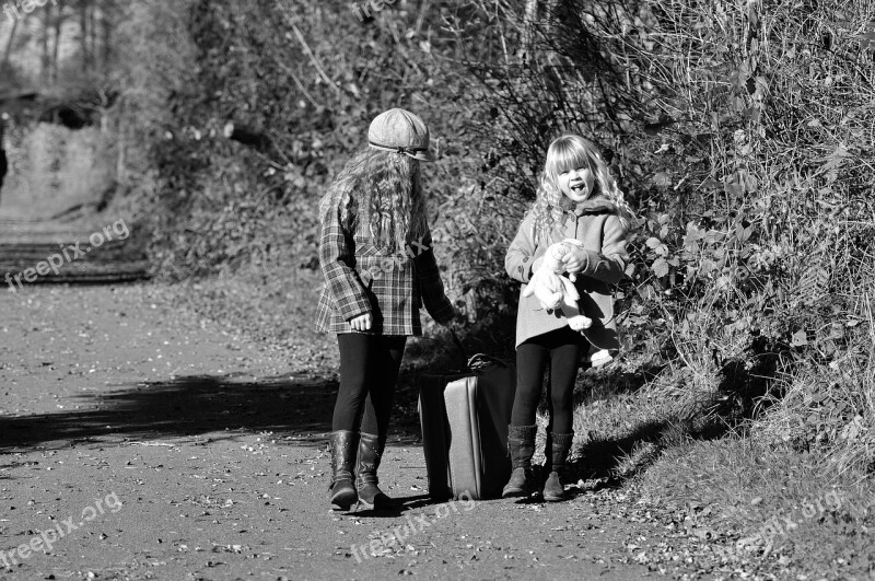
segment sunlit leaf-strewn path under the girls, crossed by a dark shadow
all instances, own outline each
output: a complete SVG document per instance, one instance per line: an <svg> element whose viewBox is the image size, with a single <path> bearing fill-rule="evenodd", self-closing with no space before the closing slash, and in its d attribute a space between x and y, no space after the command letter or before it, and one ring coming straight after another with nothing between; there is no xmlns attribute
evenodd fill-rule
<svg viewBox="0 0 875 581"><path fill-rule="evenodd" d="M648 574L611 553L651 531L598 493L430 503L409 430L393 434L381 470L404 512L331 513L334 371L223 335L165 295L0 293L0 579ZM396 527L402 543L389 541Z"/></svg>

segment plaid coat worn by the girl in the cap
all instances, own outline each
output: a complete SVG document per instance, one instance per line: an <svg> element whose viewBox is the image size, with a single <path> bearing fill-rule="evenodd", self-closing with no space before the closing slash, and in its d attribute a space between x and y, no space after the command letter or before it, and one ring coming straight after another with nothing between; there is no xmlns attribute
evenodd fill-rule
<svg viewBox="0 0 875 581"><path fill-rule="evenodd" d="M316 328L327 333L358 333L349 321L371 313L370 334L422 335L419 310L423 303L440 324L455 316L432 249L431 232L408 244L406 252L387 254L371 243L368 216L342 220L341 194L332 194L322 209L319 265L325 286L316 309Z"/></svg>

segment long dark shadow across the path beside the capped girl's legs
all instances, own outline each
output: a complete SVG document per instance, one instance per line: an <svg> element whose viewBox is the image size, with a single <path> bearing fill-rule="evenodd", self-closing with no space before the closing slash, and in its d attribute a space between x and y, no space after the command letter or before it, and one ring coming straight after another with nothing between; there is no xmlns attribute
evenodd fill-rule
<svg viewBox="0 0 875 581"><path fill-rule="evenodd" d="M68 405L90 409L0 417L0 453L81 442L156 440L221 431L275 432L295 445L324 446L337 382L289 375L257 382L233 376L187 376L75 396ZM411 388L398 386L394 435L415 442L419 428L405 421ZM413 396L415 397L415 396ZM96 409L95 409L96 406ZM413 411L416 404L413 404ZM408 428L405 428L408 426ZM413 429L415 428L415 429ZM394 439L393 439L394 440Z"/></svg>

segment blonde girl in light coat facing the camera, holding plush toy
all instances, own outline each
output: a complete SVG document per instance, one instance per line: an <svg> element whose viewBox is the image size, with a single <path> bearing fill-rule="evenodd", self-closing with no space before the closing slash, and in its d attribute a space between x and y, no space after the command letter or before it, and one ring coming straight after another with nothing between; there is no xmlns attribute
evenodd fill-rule
<svg viewBox="0 0 875 581"><path fill-rule="evenodd" d="M578 135L553 140L532 210L511 243L504 266L523 283L516 318L516 394L508 448L513 473L504 497L528 496L536 490L532 475L544 375L550 369L550 426L547 434L548 473L545 500L564 500L564 466L574 439L572 393L578 368L592 349L620 347L614 322L610 284L618 282L629 259L626 236L634 217L595 147ZM544 310L525 286L544 262L547 248L565 240L563 276L573 275L581 313L593 322L572 330L561 309Z"/></svg>

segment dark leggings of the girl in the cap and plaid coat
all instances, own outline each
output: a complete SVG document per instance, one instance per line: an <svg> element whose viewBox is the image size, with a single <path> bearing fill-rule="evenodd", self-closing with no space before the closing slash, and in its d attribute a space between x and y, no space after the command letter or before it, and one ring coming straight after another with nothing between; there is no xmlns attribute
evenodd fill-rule
<svg viewBox="0 0 875 581"><path fill-rule="evenodd" d="M385 439L407 337L341 333L337 342L340 390L331 430L362 431Z"/></svg>

